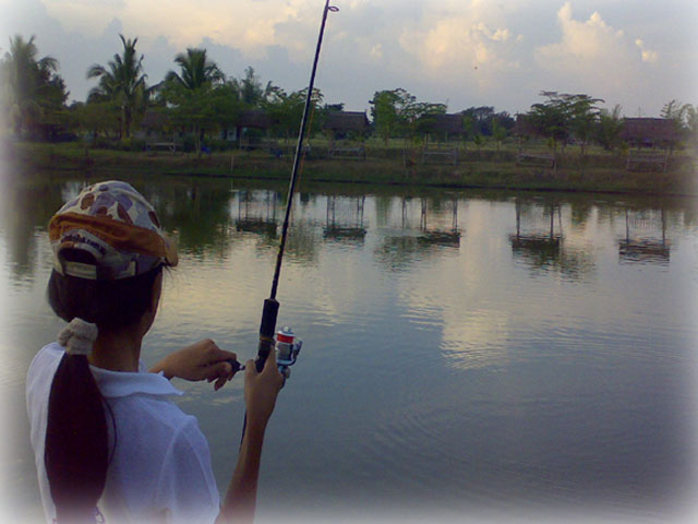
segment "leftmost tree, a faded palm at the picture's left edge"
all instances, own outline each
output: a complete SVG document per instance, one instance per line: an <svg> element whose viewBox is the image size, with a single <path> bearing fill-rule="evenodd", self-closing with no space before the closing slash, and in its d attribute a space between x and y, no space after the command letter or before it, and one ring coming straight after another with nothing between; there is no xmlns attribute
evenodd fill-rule
<svg viewBox="0 0 698 524"><path fill-rule="evenodd" d="M56 124L68 98L63 79L56 73L58 61L48 56L37 58L34 38L11 38L10 50L0 61L2 103L16 135Z"/></svg>

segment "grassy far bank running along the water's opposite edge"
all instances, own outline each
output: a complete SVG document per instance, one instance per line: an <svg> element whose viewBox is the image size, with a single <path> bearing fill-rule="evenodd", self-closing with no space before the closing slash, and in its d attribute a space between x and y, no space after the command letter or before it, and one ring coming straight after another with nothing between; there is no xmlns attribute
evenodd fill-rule
<svg viewBox="0 0 698 524"><path fill-rule="evenodd" d="M290 155L276 158L258 151L234 150L198 158L179 152L85 150L75 143L16 143L4 156L16 175L50 169L87 170L97 177L153 172L286 180L292 163ZM461 152L457 165L424 164L418 152L405 154L401 148L369 150L365 160L326 156L322 147L313 147L303 163L302 178L327 182L698 195L695 158L684 154L673 155L664 174L628 171L624 155L593 151L583 158L576 152L566 152L558 156L555 169L517 166L516 150L512 146Z"/></svg>

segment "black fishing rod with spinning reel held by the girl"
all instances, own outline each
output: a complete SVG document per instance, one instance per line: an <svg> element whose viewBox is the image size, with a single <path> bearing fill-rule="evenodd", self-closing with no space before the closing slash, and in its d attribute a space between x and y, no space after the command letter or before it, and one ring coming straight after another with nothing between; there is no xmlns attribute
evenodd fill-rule
<svg viewBox="0 0 698 524"><path fill-rule="evenodd" d="M276 331L276 319L279 312L279 302L276 299L276 291L279 286L279 276L281 274L281 262L284 261L284 250L286 248L286 239L288 237L288 226L289 219L291 215L291 205L293 203L293 192L296 191L296 184L298 182L299 177L299 166L301 156L303 154L303 139L305 136L305 128L308 126L308 115L310 112L310 107L312 104L313 96L313 86L315 84L315 73L317 72L317 61L320 60L320 48L323 44L323 36L325 34L325 23L327 22L327 14L329 12L336 13L339 11L339 8L335 8L329 5L329 0L325 1L325 8L323 9L323 19L320 25L320 35L317 36L317 47L315 48L315 59L313 60L313 69L310 74L310 84L308 86L308 94L305 95L305 106L303 108L303 117L301 119L301 128L298 135L298 143L296 144L296 155L293 156L293 169L291 170L291 180L289 182L288 188L288 201L286 203L286 214L284 216L284 225L281 227L281 240L279 242L279 252L276 258L276 267L274 269L274 278L272 279L272 293L269 297L264 300L264 307L262 309L262 322L260 323L260 343L257 346L257 358L255 360L255 366L257 371L262 371L264 369L264 362L266 362L267 357L269 356L269 352L275 348L275 331ZM286 327L282 330L285 332L290 332ZM284 335L279 333L282 338ZM282 350L281 347L279 354L279 368L285 372L285 376L288 377L288 366L296 362L296 357L298 356L298 352L300 350L300 345L293 345L292 332L290 332L290 345L288 345L288 350ZM279 341L279 342L288 342L288 341ZM282 346L286 348L286 346Z"/></svg>

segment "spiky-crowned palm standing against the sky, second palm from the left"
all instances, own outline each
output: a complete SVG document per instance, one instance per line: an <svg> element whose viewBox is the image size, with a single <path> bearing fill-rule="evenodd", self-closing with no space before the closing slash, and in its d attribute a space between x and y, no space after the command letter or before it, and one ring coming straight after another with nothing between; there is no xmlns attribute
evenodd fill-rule
<svg viewBox="0 0 698 524"><path fill-rule="evenodd" d="M88 79L99 79L99 84L89 92L88 99L109 99L121 111L122 136L131 135L133 114L143 105L147 95L143 72L143 55L137 57L137 38L127 40L119 35L123 44L123 53L115 55L107 68L95 64L87 70Z"/></svg>

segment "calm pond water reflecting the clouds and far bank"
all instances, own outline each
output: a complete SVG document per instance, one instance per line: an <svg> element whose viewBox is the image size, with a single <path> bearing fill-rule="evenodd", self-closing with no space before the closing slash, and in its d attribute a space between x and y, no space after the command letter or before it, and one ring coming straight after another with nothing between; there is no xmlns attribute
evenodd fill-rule
<svg viewBox="0 0 698 524"><path fill-rule="evenodd" d="M94 180L92 180L94 181ZM0 492L41 517L24 377L61 323L46 224L85 181L0 198ZM252 358L286 184L140 178L180 246L153 364L212 337ZM260 522L667 522L696 483L695 200L301 187L278 298L304 345L265 443ZM225 490L242 380L176 381Z"/></svg>

